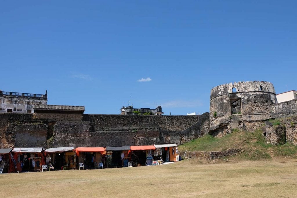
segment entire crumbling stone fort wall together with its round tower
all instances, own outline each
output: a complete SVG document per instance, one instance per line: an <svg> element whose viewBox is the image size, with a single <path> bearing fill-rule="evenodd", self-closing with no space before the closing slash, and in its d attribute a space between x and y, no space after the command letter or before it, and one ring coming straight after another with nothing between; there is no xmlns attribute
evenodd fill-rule
<svg viewBox="0 0 297 198"><path fill-rule="evenodd" d="M297 99L277 103L272 83L264 81L213 88L210 113L202 115L75 115L0 113L0 148L179 145L208 133L222 137L236 128L262 128L268 143L297 145ZM280 123L273 126L270 119Z"/></svg>

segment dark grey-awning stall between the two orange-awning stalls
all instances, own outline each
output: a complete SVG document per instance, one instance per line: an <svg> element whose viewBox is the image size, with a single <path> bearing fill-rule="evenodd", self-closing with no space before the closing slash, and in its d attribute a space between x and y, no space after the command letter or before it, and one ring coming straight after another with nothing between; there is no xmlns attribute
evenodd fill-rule
<svg viewBox="0 0 297 198"><path fill-rule="evenodd" d="M131 163L130 146L106 146L107 168L128 167Z"/></svg>

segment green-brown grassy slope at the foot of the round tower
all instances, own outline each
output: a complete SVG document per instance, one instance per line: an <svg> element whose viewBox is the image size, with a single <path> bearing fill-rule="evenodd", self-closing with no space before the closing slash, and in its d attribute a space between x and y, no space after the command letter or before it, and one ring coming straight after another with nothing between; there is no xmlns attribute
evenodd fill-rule
<svg viewBox="0 0 297 198"><path fill-rule="evenodd" d="M240 159L257 160L270 159L271 157L297 158L297 147L290 144L267 144L261 130L244 132L235 130L225 137L217 138L205 135L189 143L180 145L179 150L185 151L225 151L229 148L242 148L243 153L237 157Z"/></svg>

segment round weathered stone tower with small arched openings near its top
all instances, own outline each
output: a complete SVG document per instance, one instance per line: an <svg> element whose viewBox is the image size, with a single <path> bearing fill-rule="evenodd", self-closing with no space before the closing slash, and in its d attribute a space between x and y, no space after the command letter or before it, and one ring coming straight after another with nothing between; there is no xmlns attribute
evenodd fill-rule
<svg viewBox="0 0 297 198"><path fill-rule="evenodd" d="M247 81L219 85L211 90L209 133L223 136L240 128L255 130L270 118L277 103L272 83Z"/></svg>

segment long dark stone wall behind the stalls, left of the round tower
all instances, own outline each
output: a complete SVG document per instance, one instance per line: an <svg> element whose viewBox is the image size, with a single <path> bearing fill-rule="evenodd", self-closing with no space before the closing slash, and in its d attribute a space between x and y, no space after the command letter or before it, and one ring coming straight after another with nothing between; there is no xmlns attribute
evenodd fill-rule
<svg viewBox="0 0 297 198"><path fill-rule="evenodd" d="M1 148L181 144L208 132L209 114L0 114Z"/></svg>

